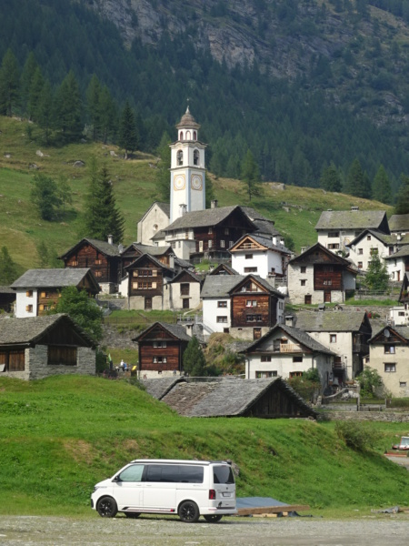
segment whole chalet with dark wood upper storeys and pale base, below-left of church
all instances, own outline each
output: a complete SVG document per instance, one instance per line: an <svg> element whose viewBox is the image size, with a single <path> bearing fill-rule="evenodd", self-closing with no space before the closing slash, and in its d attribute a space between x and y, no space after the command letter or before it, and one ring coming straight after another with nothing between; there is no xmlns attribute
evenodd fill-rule
<svg viewBox="0 0 409 546"><path fill-rule="evenodd" d="M125 271L127 275L121 282L121 292L128 298L128 308L169 308L165 285L174 278L174 269L167 268L150 254L143 254Z"/></svg>

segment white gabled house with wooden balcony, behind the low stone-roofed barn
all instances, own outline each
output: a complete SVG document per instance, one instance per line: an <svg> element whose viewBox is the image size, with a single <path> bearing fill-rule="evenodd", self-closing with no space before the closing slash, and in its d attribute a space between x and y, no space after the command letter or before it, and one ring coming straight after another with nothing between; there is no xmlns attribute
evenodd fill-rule
<svg viewBox="0 0 409 546"><path fill-rule="evenodd" d="M241 351L246 358L246 379L301 377L317 369L322 388L333 381L335 354L303 330L277 324Z"/></svg>

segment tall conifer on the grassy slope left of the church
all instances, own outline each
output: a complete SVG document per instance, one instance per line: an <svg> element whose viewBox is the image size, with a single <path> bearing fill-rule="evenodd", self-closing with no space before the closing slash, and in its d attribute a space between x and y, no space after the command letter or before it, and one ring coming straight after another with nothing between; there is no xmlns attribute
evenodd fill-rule
<svg viewBox="0 0 409 546"><path fill-rule="evenodd" d="M104 241L108 235L112 235L115 243L120 243L124 238L124 230L125 219L116 207L108 169L105 165L98 169L94 159L85 202L85 234Z"/></svg>

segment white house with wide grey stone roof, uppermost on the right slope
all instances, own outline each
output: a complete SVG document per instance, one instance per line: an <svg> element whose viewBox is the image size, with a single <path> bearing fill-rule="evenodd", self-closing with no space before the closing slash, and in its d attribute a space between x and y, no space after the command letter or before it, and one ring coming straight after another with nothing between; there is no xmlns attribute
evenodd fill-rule
<svg viewBox="0 0 409 546"><path fill-rule="evenodd" d="M347 251L347 245L364 229L374 229L389 235L389 225L384 210L324 210L315 226L318 242L335 253Z"/></svg>

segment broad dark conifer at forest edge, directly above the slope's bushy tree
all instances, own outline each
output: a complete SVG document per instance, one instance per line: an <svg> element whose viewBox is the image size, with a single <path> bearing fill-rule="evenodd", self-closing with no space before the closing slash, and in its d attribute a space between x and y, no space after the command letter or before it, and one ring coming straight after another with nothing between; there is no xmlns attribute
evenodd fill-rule
<svg viewBox="0 0 409 546"><path fill-rule="evenodd" d="M84 127L82 115L81 93L71 70L65 76L55 97L55 124L62 132L65 143L75 142L81 138Z"/></svg>

